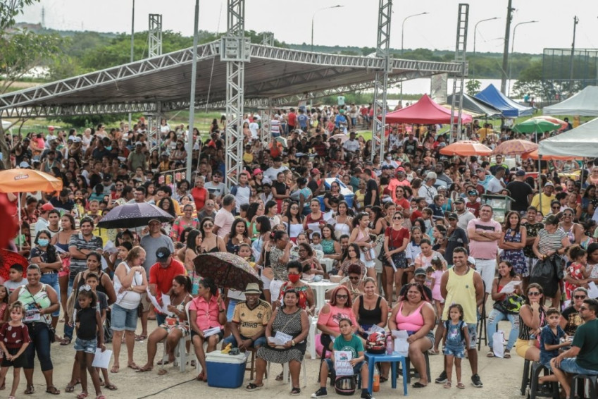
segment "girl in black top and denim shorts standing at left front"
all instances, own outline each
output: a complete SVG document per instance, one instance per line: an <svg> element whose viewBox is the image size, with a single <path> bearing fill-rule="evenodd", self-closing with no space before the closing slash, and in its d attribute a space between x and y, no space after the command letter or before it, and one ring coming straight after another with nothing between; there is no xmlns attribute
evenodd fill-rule
<svg viewBox="0 0 598 399"><path fill-rule="evenodd" d="M94 388L96 390L96 398L104 398L101 393L101 386L99 376L95 367L92 367L94 357L96 355L96 348L100 348L102 352L106 350L104 346L104 328L101 323L101 315L97 308L97 296L89 286L82 286L77 295L77 302L80 309L75 314L75 327L77 329L77 340L75 340L75 355L80 367L81 388L82 392L77 395L77 398L87 398L87 372L92 377ZM96 338L99 335L99 340Z"/></svg>

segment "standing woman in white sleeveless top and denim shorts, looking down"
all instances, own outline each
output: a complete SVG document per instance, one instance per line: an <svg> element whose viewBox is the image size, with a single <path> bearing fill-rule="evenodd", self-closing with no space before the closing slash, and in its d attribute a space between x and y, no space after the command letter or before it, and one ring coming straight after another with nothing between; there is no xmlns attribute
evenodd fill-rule
<svg viewBox="0 0 598 399"><path fill-rule="evenodd" d="M141 302L141 294L147 290L147 275L143 268L145 250L134 247L129 251L124 262L114 271L114 290L116 302L112 305L111 326L114 331L112 349L114 350L114 364L111 373L120 370L120 344L125 334L127 344L127 367L137 370L139 366L133 361L135 348L135 330L137 329L137 308Z"/></svg>

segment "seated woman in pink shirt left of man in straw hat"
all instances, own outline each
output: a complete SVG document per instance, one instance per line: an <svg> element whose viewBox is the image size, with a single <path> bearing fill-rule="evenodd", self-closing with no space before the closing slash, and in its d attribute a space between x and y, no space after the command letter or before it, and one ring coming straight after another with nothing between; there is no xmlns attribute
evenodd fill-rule
<svg viewBox="0 0 598 399"><path fill-rule="evenodd" d="M204 341L208 342L206 352L216 350L218 341L223 338L223 325L226 322L226 307L222 297L218 295L216 284L211 278L199 281L197 297L189 306L189 323L191 324L191 342L195 348L195 356L201 364L201 373L197 376L199 381L208 381L206 372L206 354ZM204 331L214 327L220 332L206 337Z"/></svg>

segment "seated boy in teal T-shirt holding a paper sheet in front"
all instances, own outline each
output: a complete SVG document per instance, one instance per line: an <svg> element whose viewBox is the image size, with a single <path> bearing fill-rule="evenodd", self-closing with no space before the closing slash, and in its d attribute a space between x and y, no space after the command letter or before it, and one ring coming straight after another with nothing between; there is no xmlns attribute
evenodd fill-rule
<svg viewBox="0 0 598 399"><path fill-rule="evenodd" d="M328 370L334 369L335 352L337 350L350 351L353 355L351 358L351 366L353 366L353 374L361 373L361 399L374 399L368 392L368 363L365 361L366 355L363 354L363 343L361 339L353 333L353 323L349 319L341 319L339 321L340 336L335 339L335 344L332 347L332 355L330 359L326 359L320 368L320 389L316 393L312 393L312 398L324 398L328 396L326 391L326 381L328 381Z"/></svg>

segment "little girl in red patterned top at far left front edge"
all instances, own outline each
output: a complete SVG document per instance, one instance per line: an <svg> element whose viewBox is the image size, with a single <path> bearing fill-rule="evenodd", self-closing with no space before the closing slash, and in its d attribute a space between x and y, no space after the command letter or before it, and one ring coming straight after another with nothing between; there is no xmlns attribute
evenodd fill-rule
<svg viewBox="0 0 598 399"><path fill-rule="evenodd" d="M21 302L13 302L9 310L11 320L0 327L0 348L5 354L0 367L0 381L4 386L6 372L8 372L8 367L12 366L13 386L8 399L15 399L15 393L19 386L20 369L27 365L23 352L29 346L31 338L27 326L23 324L23 305Z"/></svg>

